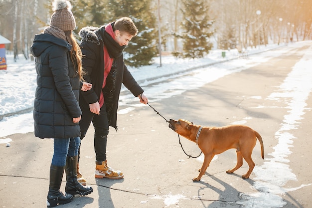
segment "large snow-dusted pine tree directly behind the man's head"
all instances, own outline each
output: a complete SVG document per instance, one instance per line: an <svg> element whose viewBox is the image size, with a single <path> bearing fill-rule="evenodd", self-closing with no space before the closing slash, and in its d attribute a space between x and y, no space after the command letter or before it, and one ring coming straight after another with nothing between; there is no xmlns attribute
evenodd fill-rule
<svg viewBox="0 0 312 208"><path fill-rule="evenodd" d="M151 2L152 0L109 0L108 6L115 18L128 16L139 30L125 49L125 62L129 66L149 65L156 55L156 17L151 10Z"/></svg>

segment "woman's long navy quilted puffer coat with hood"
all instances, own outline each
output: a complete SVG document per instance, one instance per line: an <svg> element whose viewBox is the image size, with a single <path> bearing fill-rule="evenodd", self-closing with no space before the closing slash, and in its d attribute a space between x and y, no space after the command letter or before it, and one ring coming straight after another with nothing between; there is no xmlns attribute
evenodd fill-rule
<svg viewBox="0 0 312 208"><path fill-rule="evenodd" d="M35 36L31 53L36 57L37 88L34 100L35 136L80 136L79 75L70 59L71 45L49 34ZM76 67L77 68L77 67Z"/></svg>

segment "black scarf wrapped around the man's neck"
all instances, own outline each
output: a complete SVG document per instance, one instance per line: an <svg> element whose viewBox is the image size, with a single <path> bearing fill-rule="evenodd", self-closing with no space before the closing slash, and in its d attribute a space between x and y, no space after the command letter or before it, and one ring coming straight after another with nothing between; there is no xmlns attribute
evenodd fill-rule
<svg viewBox="0 0 312 208"><path fill-rule="evenodd" d="M115 22L112 23L113 28L114 28L114 23ZM124 46L119 45L114 40L114 38L109 33L107 33L107 31L105 31L105 27L100 28L100 32L104 41L104 45L106 46L107 51L110 54L110 57L116 59L119 56L121 56L126 45Z"/></svg>

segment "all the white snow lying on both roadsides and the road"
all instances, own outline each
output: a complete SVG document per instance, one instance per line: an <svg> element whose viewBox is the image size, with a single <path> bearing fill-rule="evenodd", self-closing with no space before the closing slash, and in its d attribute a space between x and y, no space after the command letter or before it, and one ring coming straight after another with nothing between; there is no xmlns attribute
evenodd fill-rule
<svg viewBox="0 0 312 208"><path fill-rule="evenodd" d="M312 41L301 41L282 45L267 45L248 49L252 54L248 58L238 57L237 50L226 50L226 56L221 56L221 50L212 50L207 56L199 59L179 59L172 56L155 58L153 64L140 68L128 67L138 83L145 89L149 103L181 94L189 89L199 88L207 83L217 80L231 73L246 70L254 65L261 64L272 57L280 56L288 51L303 46L312 45ZM274 52L270 49L275 49ZM265 53L259 53L266 51ZM0 146L9 146L13 143L9 135L14 133L33 132L33 120L31 111L33 106L34 93L36 88L36 72L34 61L24 60L22 55L14 62L13 55L7 54L7 70L0 70ZM310 69L308 68L310 66ZM273 148L274 152L265 159L261 166L253 170L255 174L252 185L257 193L241 193L241 204L244 207L253 208L280 208L286 205L281 195L288 191L294 191L312 184L303 184L300 187L284 188L283 186L291 180L297 181L296 175L290 169L288 155L291 155L290 147L296 139L290 131L297 129L298 122L304 118L306 100L312 91L312 46L307 50L303 58L297 62L292 71L285 78L284 82L277 86L274 93L265 99L282 100L287 97L288 114L280 124L280 129L275 133L279 141ZM209 75L209 76L208 76ZM299 87L300 86L300 87ZM305 87L302 87L305 86ZM170 90L168 90L170 89ZM123 87L119 102L119 114L127 114L139 107L141 104L128 90ZM127 106L127 107L126 107ZM268 108L270 106L258 106ZM272 106L273 107L273 106ZM18 114L16 114L18 113ZM250 118L236 121L232 124L244 124ZM25 122L27 121L27 122ZM217 160L217 156L214 160ZM197 160L203 161L203 156ZM277 171L278 169L278 171ZM186 198L183 195L156 196L154 199L163 200L166 206L174 205L180 199Z"/></svg>

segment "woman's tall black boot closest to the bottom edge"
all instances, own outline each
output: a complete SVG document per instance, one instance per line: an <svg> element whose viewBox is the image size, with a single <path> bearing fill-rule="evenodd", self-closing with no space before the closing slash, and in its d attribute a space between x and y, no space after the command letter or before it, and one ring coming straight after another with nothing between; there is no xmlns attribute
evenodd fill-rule
<svg viewBox="0 0 312 208"><path fill-rule="evenodd" d="M47 207L52 208L57 205L70 203L73 200L72 195L63 194L60 192L60 187L63 179L64 167L50 166L50 185L47 196Z"/></svg>

